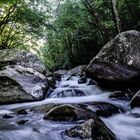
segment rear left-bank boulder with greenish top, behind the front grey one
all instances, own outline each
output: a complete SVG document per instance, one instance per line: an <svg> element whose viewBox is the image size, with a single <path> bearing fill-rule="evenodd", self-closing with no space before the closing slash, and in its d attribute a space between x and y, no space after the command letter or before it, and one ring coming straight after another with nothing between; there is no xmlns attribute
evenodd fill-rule
<svg viewBox="0 0 140 140"><path fill-rule="evenodd" d="M42 74L50 74L49 70L45 68L45 65L36 55L25 50L0 50L0 68L7 65L20 65L26 68L32 68Z"/></svg>

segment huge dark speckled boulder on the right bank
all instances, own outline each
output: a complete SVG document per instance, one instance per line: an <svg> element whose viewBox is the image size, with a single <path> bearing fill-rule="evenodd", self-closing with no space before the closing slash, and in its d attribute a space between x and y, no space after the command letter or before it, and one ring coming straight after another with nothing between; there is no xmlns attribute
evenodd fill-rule
<svg viewBox="0 0 140 140"><path fill-rule="evenodd" d="M87 66L86 74L103 86L126 88L140 82L140 32L120 33Z"/></svg>

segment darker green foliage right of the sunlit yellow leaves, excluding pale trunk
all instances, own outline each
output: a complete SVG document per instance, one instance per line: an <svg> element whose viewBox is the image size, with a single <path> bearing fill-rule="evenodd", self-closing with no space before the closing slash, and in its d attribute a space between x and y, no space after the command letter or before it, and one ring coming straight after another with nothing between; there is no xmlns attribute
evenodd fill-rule
<svg viewBox="0 0 140 140"><path fill-rule="evenodd" d="M139 30L140 1L117 1L120 30ZM57 6L42 56L52 68L87 64L118 34L111 0L65 0Z"/></svg>

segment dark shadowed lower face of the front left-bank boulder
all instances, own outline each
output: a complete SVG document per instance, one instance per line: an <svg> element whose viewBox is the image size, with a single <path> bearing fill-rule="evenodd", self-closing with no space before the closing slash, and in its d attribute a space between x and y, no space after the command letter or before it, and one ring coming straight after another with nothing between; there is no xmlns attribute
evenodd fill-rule
<svg viewBox="0 0 140 140"><path fill-rule="evenodd" d="M16 81L0 76L0 104L33 101L32 95L27 94Z"/></svg>

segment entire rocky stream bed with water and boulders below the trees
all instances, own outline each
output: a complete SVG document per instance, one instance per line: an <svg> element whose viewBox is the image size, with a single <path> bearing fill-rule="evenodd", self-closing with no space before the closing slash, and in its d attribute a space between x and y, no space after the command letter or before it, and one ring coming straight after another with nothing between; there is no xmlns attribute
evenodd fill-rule
<svg viewBox="0 0 140 140"><path fill-rule="evenodd" d="M0 51L0 140L139 140L139 64L137 31L54 73L31 53Z"/></svg>

